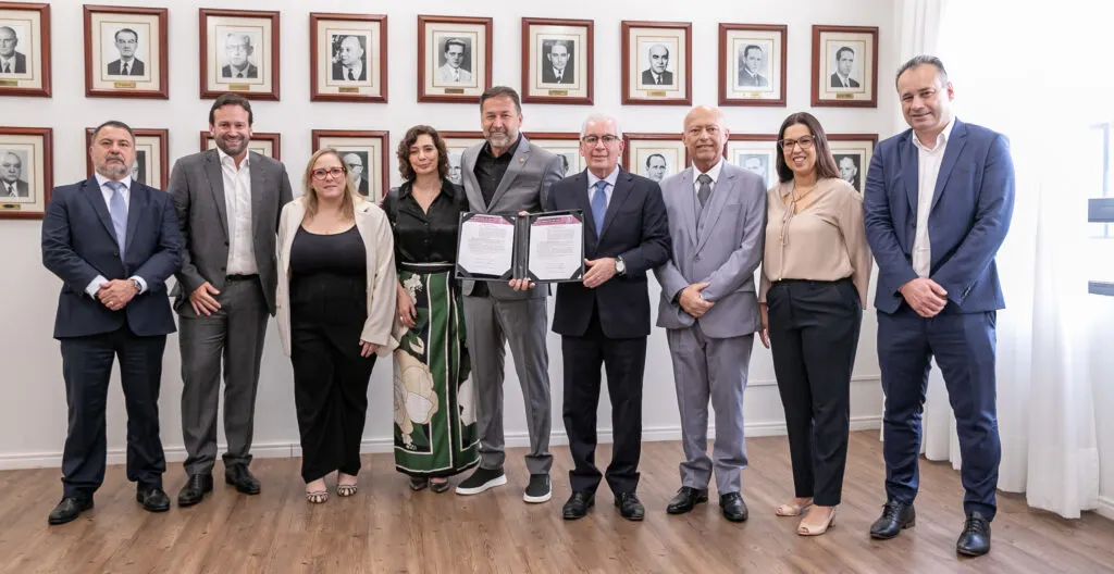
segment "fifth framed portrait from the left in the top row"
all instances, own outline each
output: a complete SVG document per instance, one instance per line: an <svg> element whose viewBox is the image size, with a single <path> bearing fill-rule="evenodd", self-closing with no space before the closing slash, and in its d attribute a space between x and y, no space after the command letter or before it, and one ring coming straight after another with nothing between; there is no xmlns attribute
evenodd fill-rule
<svg viewBox="0 0 1114 574"><path fill-rule="evenodd" d="M476 103L491 87L491 19L418 16L418 101Z"/></svg>

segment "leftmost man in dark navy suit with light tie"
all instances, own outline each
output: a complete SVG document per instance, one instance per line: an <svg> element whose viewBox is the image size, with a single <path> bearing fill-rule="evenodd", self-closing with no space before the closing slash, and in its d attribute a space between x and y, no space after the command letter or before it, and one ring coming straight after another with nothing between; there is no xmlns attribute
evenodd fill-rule
<svg viewBox="0 0 1114 574"><path fill-rule="evenodd" d="M69 428L62 453L62 499L50 524L92 508L105 479L105 402L113 357L128 414L127 476L150 512L170 507L163 492L166 459L158 435L158 387L174 317L166 278L182 263L170 196L130 177L135 132L107 121L89 148L89 179L55 188L42 219L42 264L62 280L55 319L61 342Z"/></svg>

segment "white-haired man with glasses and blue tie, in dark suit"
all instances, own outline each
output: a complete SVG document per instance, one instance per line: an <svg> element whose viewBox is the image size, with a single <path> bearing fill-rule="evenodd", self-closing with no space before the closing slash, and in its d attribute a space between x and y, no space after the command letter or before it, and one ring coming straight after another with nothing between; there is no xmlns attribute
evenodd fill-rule
<svg viewBox="0 0 1114 574"><path fill-rule="evenodd" d="M618 167L623 132L614 118L593 115L580 130L588 168L549 189L547 210L584 212L587 270L557 286L553 330L561 335L565 432L574 467L565 519L593 505L600 473L594 464L599 369L607 369L614 447L607 485L624 518L641 521L635 489L642 445L642 384L649 335L646 271L670 258L670 224L656 181Z"/></svg>

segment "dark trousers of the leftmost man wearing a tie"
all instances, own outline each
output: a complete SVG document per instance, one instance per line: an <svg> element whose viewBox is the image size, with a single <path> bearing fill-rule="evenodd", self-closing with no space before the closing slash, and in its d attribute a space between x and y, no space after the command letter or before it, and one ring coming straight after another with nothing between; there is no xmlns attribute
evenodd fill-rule
<svg viewBox="0 0 1114 574"><path fill-rule="evenodd" d="M105 404L113 358L120 362L128 415L127 477L138 489L163 487L166 457L158 434L158 390L166 335L140 337L126 325L113 333L61 339L69 427L62 452L65 496L91 498L105 482Z"/></svg>

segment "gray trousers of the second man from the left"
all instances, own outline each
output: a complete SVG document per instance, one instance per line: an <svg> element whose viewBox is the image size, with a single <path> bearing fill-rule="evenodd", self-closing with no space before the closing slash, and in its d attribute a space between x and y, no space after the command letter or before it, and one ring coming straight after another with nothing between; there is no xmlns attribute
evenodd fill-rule
<svg viewBox="0 0 1114 574"><path fill-rule="evenodd" d="M267 327L260 281L227 281L216 296L221 309L206 317L185 301L178 321L182 352L182 437L186 474L208 474L216 461L216 414L224 362L225 466L252 462L255 390Z"/></svg>

